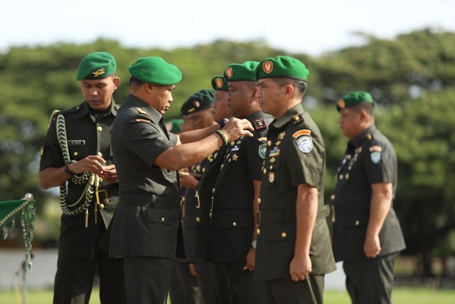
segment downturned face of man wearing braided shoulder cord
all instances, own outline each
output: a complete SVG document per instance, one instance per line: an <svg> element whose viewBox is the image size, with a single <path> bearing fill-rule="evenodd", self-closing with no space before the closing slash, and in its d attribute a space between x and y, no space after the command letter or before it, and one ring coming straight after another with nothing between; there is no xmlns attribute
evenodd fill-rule
<svg viewBox="0 0 455 304"><path fill-rule="evenodd" d="M80 90L90 108L106 110L109 108L114 90L120 85L120 78L110 75L104 79L80 80Z"/></svg>

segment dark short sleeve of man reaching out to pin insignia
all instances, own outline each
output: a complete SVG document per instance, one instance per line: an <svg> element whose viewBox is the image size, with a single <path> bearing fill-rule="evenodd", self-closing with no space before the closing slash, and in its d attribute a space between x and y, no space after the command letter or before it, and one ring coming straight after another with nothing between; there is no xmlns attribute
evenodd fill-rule
<svg viewBox="0 0 455 304"><path fill-rule="evenodd" d="M156 157L174 146L154 122L134 121L125 127L127 147L147 164L154 164Z"/></svg>

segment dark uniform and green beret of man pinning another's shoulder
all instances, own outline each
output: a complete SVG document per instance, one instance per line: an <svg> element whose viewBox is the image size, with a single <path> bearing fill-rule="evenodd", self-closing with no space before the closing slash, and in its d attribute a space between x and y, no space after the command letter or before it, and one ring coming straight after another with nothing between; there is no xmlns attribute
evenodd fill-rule
<svg viewBox="0 0 455 304"><path fill-rule="evenodd" d="M156 73L161 71L161 73ZM175 65L157 57L139 58L129 67L146 83L171 85L181 80ZM128 95L112 127L112 149L120 184L110 254L123 256L129 303L164 303L173 259L183 256L178 174L154 164L176 145L162 115Z"/></svg>

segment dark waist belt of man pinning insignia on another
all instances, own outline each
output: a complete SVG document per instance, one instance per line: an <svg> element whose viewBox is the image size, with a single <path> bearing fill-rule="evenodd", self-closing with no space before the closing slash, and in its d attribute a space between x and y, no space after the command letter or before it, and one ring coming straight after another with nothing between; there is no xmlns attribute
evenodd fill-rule
<svg viewBox="0 0 455 304"><path fill-rule="evenodd" d="M176 201L178 204L175 204ZM122 192L119 196L119 204L179 210L181 208L181 196L172 198L154 194Z"/></svg>

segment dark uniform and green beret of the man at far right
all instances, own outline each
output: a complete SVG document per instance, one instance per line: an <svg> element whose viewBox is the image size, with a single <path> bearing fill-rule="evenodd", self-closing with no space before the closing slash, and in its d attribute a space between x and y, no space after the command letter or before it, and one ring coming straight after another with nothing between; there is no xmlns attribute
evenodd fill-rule
<svg viewBox="0 0 455 304"><path fill-rule="evenodd" d="M373 103L370 94L346 95L338 102L338 110L363 102ZM333 253L336 261L343 261L351 299L355 304L390 303L395 258L405 248L392 206L379 234L381 250L378 257L367 258L363 251L370 217L371 185L392 183L394 198L397 187L395 149L375 125L348 142L336 179L332 196L335 211Z"/></svg>

